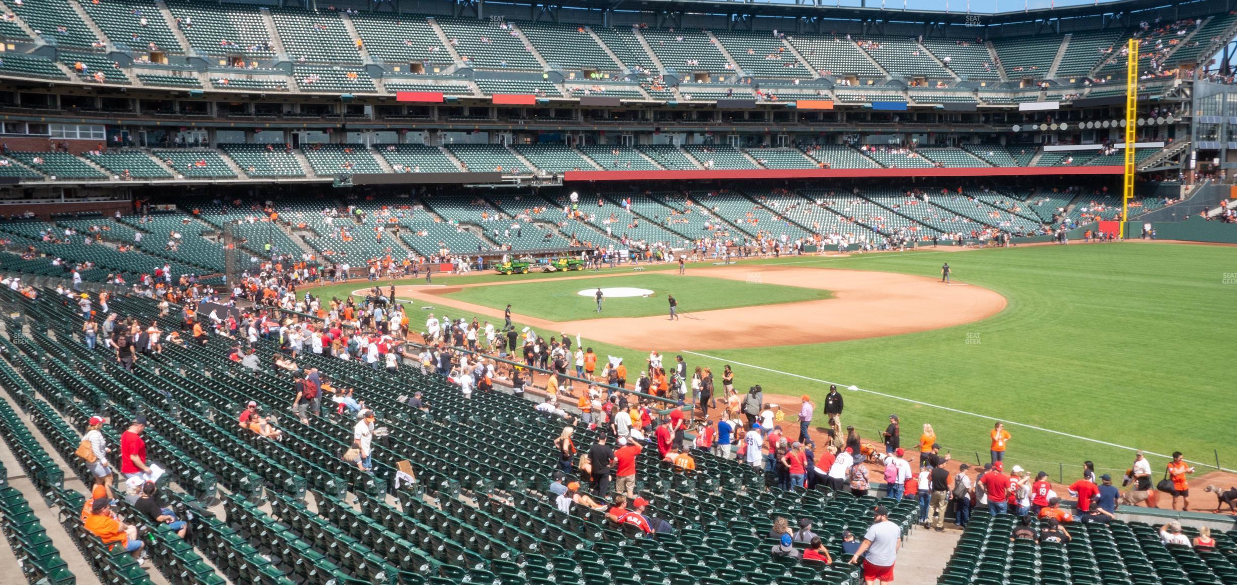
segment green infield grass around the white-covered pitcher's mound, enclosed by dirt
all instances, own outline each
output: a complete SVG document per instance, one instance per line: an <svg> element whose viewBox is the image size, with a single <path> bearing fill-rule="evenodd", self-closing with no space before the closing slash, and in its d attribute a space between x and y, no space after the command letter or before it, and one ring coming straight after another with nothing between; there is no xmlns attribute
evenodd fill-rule
<svg viewBox="0 0 1237 585"><path fill-rule="evenodd" d="M578 294L580 291L593 291L595 287L646 288L653 291L653 296L647 298L606 297L602 302L602 312L597 313L596 302L591 292L586 297ZM445 294L445 297L500 310L507 303L511 303L513 313L538 319L569 322L614 317L666 315L669 312L669 303L667 301L669 294L673 294L679 301L679 310L730 309L830 298L829 291L816 288L779 284L761 284L756 287L748 286L745 282L722 278L666 273L597 280L542 281L501 287L470 287Z"/></svg>

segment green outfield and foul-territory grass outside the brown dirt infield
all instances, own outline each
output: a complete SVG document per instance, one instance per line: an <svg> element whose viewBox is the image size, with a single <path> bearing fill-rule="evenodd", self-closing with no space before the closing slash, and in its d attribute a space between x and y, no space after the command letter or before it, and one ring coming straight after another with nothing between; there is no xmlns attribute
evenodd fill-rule
<svg viewBox="0 0 1237 585"><path fill-rule="evenodd" d="M1237 292L1237 286L1222 284L1225 272L1237 272L1227 247L1110 244L961 254L929 249L755 262L939 277L946 260L955 282L997 291L1008 299L1006 310L983 322L907 335L683 355L689 366L711 366L716 372L732 364L741 390L760 383L766 392L808 393L818 403L828 391L821 382L768 371L777 370L892 395L846 392L845 422L876 439L888 414L897 413L904 445L914 443L923 423L931 423L941 445L972 461L975 453L986 460L992 422L969 413L1155 453L1181 450L1195 461L1213 461L1212 449L1218 449L1221 466L1237 469L1237 429L1225 407L1233 387L1226 374L1232 333L1225 310ZM521 278L528 277L539 275ZM500 278L511 277L437 282ZM319 292L345 294L361 287ZM416 322L418 312L411 317ZM678 348L656 341L646 348L585 343L602 355L623 356L628 367L642 365L651 349L678 354ZM1118 446L1019 425L1008 430L1013 440L1007 465L1042 469L1054 480L1061 466L1065 480L1076 479L1085 459L1113 474L1133 460ZM1149 459L1162 469L1162 458ZM1200 474L1207 470L1197 466Z"/></svg>

